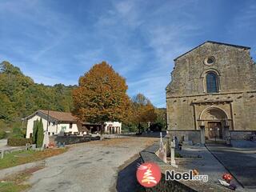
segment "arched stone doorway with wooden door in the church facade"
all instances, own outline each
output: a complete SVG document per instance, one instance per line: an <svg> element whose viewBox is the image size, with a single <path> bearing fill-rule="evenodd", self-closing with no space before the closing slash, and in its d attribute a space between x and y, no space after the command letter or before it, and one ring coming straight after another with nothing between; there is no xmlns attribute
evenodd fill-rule
<svg viewBox="0 0 256 192"><path fill-rule="evenodd" d="M227 119L224 110L218 107L209 107L202 111L200 121L206 128L206 139L222 139L224 138L224 124Z"/></svg>

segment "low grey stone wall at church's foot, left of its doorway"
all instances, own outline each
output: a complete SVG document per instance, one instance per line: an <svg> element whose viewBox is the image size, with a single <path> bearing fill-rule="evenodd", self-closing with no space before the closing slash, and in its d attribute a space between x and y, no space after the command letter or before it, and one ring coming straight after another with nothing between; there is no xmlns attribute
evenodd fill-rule
<svg viewBox="0 0 256 192"><path fill-rule="evenodd" d="M193 143L201 143L200 130L168 130L168 134L173 138L176 136L179 142L184 141L184 136L188 135L188 138Z"/></svg>

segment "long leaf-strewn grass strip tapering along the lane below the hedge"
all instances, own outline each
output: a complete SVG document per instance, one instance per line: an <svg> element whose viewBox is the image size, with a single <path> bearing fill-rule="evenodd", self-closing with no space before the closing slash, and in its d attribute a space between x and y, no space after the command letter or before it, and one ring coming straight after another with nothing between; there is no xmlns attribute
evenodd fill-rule
<svg viewBox="0 0 256 192"><path fill-rule="evenodd" d="M18 166L27 162L36 162L45 158L50 158L54 155L66 152L67 148L46 149L42 151L35 150L20 150L10 154L5 154L4 158L0 159L0 170L10 166Z"/></svg>

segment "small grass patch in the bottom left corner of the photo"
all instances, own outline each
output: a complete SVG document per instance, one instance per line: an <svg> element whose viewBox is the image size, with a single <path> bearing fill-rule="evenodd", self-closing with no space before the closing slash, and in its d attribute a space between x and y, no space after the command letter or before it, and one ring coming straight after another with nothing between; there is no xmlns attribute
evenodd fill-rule
<svg viewBox="0 0 256 192"><path fill-rule="evenodd" d="M30 178L32 173L42 168L43 167L34 167L5 178L0 182L0 192L21 192L30 188L30 185L25 183L26 180Z"/></svg>

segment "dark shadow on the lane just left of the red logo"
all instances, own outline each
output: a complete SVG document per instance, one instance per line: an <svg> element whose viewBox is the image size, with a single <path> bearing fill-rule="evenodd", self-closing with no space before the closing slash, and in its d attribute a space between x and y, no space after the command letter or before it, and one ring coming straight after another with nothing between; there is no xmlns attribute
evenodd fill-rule
<svg viewBox="0 0 256 192"><path fill-rule="evenodd" d="M118 192L142 192L146 191L137 181L136 171L138 163L142 163L141 158L137 158L118 173L116 189Z"/></svg>

